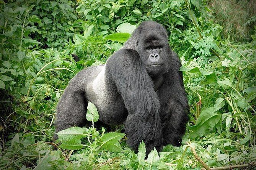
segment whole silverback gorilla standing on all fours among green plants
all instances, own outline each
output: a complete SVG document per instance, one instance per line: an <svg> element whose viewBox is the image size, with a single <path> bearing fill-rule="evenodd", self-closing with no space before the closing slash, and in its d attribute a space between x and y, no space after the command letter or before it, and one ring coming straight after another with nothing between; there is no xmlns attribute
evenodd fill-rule
<svg viewBox="0 0 256 170"><path fill-rule="evenodd" d="M70 81L57 105L56 132L85 125L90 101L101 122L124 123L127 144L135 151L142 140L147 154L166 144L180 146L188 122L180 67L166 29L142 22L106 64L88 67Z"/></svg>

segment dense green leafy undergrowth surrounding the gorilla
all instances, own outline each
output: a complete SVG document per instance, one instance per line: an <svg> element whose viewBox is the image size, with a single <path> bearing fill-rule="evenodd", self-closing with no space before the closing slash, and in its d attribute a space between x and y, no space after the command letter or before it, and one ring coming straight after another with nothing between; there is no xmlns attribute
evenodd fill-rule
<svg viewBox="0 0 256 170"><path fill-rule="evenodd" d="M0 169L201 169L193 148L208 167L255 161L251 1L223 1L227 6L205 0L6 2L0 1ZM215 12L224 10L225 15ZM236 18L243 19L239 27ZM135 154L122 126L109 132L75 127L59 133L61 145L54 141L56 104L69 80L122 47L124 37L109 35L131 34L148 19L166 27L183 64L190 104L183 145L168 145L159 155L152 151L145 162L144 144ZM87 118L97 120L93 105Z"/></svg>

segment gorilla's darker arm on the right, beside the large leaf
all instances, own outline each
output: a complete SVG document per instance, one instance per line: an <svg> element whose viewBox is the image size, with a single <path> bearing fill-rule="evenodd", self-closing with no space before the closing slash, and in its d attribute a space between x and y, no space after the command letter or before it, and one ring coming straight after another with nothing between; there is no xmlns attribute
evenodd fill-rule
<svg viewBox="0 0 256 170"><path fill-rule="evenodd" d="M165 83L160 88L159 96L163 103L161 119L163 124L164 145L181 146L181 138L188 122L188 99L183 85L182 72L179 72L181 62L172 52L171 69L165 75ZM165 117L165 118L163 118Z"/></svg>

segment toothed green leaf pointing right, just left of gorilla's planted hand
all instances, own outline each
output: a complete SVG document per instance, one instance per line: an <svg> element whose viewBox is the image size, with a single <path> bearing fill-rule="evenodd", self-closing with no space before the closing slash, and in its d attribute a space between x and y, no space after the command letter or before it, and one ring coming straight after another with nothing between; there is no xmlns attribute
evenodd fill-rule
<svg viewBox="0 0 256 170"><path fill-rule="evenodd" d="M124 133L110 132L102 136L101 141L103 142L100 148L104 148L111 152L119 152L122 150L119 140L124 137Z"/></svg>

